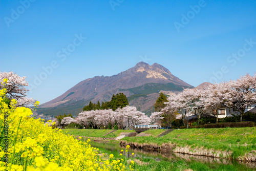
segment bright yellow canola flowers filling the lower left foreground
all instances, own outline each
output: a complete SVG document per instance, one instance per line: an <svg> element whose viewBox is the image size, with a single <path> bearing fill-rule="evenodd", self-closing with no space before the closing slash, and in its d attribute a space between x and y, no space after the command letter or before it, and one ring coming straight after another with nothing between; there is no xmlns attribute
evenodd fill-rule
<svg viewBox="0 0 256 171"><path fill-rule="evenodd" d="M88 144L90 139L74 139L31 118L31 109L15 108L16 100L6 103L5 93L6 89L0 90L0 170L134 170L134 162L127 164L125 156L101 158Z"/></svg>

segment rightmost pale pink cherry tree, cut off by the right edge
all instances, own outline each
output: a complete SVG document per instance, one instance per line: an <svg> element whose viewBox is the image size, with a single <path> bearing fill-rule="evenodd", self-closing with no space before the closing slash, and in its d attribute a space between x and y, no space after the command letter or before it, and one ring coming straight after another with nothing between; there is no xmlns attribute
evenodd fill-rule
<svg viewBox="0 0 256 171"><path fill-rule="evenodd" d="M240 121L248 105L256 103L256 75L246 74L237 80L230 80L225 86L227 101L225 104L240 112Z"/></svg>

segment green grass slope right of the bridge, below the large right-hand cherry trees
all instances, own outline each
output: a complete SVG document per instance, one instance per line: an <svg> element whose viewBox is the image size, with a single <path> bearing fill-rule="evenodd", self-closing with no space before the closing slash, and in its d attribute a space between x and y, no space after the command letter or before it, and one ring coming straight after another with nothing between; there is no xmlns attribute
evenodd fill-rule
<svg viewBox="0 0 256 171"><path fill-rule="evenodd" d="M153 131L153 130L152 130ZM127 142L158 144L176 143L178 146L204 147L231 151L236 159L247 152L256 150L256 127L239 127L225 129L183 129L174 130L160 137L125 137Z"/></svg>

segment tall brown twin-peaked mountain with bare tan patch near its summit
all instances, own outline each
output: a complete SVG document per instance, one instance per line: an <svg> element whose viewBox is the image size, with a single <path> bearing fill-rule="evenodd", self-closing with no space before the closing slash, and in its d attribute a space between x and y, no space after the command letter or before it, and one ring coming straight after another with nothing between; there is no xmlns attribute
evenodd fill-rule
<svg viewBox="0 0 256 171"><path fill-rule="evenodd" d="M174 76L158 63L152 66L139 62L129 70L113 76L96 76L77 83L59 97L39 105L38 113L57 115L78 114L89 101L110 101L113 94L124 93L130 105L142 112L152 111L159 92L175 93L183 88L193 88L190 84ZM153 103L154 102L154 103Z"/></svg>

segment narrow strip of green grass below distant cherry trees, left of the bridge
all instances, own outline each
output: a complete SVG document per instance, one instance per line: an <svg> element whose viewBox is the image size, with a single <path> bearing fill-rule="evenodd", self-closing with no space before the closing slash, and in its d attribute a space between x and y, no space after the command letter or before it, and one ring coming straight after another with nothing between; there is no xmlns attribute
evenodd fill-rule
<svg viewBox="0 0 256 171"><path fill-rule="evenodd" d="M86 130L86 129L63 129L63 133L74 136L103 137L113 130Z"/></svg>

